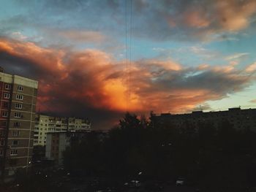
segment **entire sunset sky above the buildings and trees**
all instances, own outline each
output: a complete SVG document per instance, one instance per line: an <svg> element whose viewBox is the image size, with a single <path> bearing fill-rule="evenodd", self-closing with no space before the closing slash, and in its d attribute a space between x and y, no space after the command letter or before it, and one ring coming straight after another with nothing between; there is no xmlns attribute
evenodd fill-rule
<svg viewBox="0 0 256 192"><path fill-rule="evenodd" d="M256 108L256 0L1 0L0 66L37 112L112 128L137 115Z"/></svg>

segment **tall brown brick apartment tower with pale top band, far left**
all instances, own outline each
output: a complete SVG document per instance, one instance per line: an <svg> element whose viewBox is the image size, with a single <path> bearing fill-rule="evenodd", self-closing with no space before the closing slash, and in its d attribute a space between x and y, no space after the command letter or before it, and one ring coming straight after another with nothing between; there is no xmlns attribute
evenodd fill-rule
<svg viewBox="0 0 256 192"><path fill-rule="evenodd" d="M36 80L0 72L0 175L28 171L34 141Z"/></svg>

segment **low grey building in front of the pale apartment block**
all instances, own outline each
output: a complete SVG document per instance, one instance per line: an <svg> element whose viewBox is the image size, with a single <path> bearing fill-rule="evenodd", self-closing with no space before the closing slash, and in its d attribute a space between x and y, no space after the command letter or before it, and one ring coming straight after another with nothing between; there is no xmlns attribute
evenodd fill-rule
<svg viewBox="0 0 256 192"><path fill-rule="evenodd" d="M108 137L108 132L102 131L59 131L48 132L46 134L45 157L55 161L56 165L63 164L63 153L67 147L75 142L81 142L83 139L93 137L102 142ZM95 137L96 136L96 137Z"/></svg>

